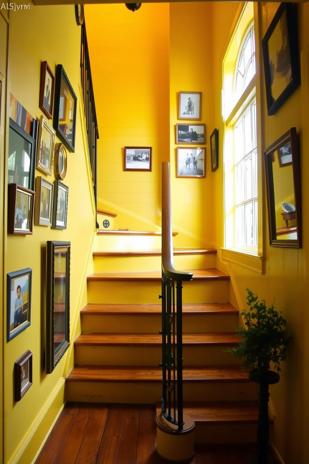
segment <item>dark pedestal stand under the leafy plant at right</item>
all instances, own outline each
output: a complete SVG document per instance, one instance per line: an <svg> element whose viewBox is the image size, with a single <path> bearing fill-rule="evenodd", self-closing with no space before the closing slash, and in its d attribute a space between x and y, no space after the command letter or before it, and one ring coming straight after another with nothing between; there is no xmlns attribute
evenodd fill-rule
<svg viewBox="0 0 309 464"><path fill-rule="evenodd" d="M259 419L258 419L258 456L256 464L268 463L268 444L269 444L269 419L268 419L268 387L271 384L277 383L280 376L277 372L267 370L264 375L260 375L257 369L249 372L249 379L259 383Z"/></svg>

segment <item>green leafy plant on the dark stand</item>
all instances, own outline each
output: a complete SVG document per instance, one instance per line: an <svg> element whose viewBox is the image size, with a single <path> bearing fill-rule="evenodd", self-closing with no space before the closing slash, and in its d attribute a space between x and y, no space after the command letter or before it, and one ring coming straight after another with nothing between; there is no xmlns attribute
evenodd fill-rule
<svg viewBox="0 0 309 464"><path fill-rule="evenodd" d="M258 301L258 296L246 289L247 305L250 310L241 311L246 328L238 327L236 332L241 337L237 348L228 348L235 358L244 358L243 368L257 369L264 375L273 362L280 371L280 361L286 360L286 351L291 337L285 329L282 311L276 311L273 304L267 308L265 300Z"/></svg>

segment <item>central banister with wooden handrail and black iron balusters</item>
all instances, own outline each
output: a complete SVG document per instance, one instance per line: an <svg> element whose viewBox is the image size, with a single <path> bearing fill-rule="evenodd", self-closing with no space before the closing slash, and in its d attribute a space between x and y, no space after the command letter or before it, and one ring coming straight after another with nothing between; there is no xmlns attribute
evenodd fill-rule
<svg viewBox="0 0 309 464"><path fill-rule="evenodd" d="M191 272L176 271L170 201L170 163L162 163L162 413L183 430L183 319L182 282ZM176 287L176 292L175 292Z"/></svg>

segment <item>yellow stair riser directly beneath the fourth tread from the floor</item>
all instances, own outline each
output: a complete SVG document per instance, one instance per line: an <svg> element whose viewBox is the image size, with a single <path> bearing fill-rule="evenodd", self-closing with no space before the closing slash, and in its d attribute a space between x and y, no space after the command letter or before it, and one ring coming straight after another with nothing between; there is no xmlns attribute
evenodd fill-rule
<svg viewBox="0 0 309 464"><path fill-rule="evenodd" d="M156 315L81 315L84 333L158 334L161 330L161 314ZM233 314L183 315L183 333L232 332L238 324Z"/></svg>

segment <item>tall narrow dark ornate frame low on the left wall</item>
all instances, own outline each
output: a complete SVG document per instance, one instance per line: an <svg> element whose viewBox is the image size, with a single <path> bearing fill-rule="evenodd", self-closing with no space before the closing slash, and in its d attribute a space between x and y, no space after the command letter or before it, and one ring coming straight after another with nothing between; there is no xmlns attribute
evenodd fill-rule
<svg viewBox="0 0 309 464"><path fill-rule="evenodd" d="M46 242L46 373L70 344L70 242Z"/></svg>

